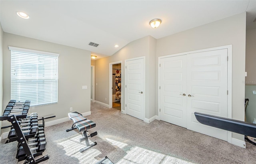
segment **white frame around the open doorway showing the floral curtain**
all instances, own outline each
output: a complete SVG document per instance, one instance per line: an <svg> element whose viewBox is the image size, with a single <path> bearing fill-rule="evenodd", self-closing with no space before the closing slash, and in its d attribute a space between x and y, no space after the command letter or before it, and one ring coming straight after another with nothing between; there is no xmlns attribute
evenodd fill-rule
<svg viewBox="0 0 256 164"><path fill-rule="evenodd" d="M113 83L113 80L112 80L112 69L113 69L113 65L114 64L121 64L121 112L123 113L124 111L122 110L122 101L123 101L123 73L122 73L122 70L123 70L123 64L122 64L122 61L115 61L115 62L112 62L112 63L109 63L109 108L112 108L113 107L113 104L112 104L112 83Z"/></svg>

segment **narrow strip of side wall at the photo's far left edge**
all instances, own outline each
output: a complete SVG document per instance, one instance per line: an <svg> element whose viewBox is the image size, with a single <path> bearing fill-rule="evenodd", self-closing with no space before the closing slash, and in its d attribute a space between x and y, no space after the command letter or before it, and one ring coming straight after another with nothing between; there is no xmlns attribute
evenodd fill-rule
<svg viewBox="0 0 256 164"><path fill-rule="evenodd" d="M3 106L3 29L0 22L0 115L2 115ZM2 121L0 121L0 127L2 127ZM1 135L1 129L0 129Z"/></svg>

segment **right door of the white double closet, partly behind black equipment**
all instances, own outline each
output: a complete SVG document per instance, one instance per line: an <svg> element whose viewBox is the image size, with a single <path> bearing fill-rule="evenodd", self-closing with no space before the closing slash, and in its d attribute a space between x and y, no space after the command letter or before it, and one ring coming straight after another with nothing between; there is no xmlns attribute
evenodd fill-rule
<svg viewBox="0 0 256 164"><path fill-rule="evenodd" d="M187 128L227 140L227 131L200 124L194 112L227 117L227 49L187 55Z"/></svg>

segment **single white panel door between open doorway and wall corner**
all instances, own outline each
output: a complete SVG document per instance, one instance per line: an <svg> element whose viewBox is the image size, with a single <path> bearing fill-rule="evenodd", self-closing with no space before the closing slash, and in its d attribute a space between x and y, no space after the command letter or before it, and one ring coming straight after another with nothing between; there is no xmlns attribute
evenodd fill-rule
<svg viewBox="0 0 256 164"><path fill-rule="evenodd" d="M126 114L144 120L144 58L125 61Z"/></svg>

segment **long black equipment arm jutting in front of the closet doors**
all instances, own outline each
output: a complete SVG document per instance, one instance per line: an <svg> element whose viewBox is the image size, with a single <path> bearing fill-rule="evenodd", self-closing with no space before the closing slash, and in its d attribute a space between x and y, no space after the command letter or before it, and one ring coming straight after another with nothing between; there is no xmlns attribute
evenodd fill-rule
<svg viewBox="0 0 256 164"><path fill-rule="evenodd" d="M198 112L195 112L194 115L196 116L197 121L201 124L236 132L246 136L256 137L256 124Z"/></svg>

